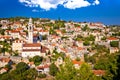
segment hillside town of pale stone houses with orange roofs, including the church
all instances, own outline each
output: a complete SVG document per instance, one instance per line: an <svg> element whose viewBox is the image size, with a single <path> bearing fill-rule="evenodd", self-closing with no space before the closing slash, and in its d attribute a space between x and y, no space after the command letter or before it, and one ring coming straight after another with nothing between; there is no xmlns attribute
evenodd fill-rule
<svg viewBox="0 0 120 80"><path fill-rule="evenodd" d="M14 70L13 63L24 62L38 73L49 76L51 63L59 67L64 64L63 57L69 58L75 68L79 68L86 63L86 54L92 56L97 53L94 45L105 46L110 54L119 52L120 48L120 37L111 37L114 32L102 23L29 18L4 19L0 24L0 74L8 71L5 68L7 64ZM112 46L112 41L118 41L118 46ZM35 56L44 60L35 64L30 60ZM96 76L105 74L104 70L92 71Z"/></svg>

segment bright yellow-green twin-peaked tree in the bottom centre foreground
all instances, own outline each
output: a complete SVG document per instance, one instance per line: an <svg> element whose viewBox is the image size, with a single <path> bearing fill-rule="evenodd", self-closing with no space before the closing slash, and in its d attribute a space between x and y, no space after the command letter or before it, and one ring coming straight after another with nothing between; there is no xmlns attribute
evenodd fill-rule
<svg viewBox="0 0 120 80"><path fill-rule="evenodd" d="M90 66L86 63L76 69L70 59L65 60L65 64L60 66L56 80L99 80L93 73Z"/></svg>

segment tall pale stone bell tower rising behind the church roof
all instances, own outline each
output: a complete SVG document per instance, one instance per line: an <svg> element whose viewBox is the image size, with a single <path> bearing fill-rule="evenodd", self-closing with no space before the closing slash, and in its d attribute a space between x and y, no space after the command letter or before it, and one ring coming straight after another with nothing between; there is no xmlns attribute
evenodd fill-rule
<svg viewBox="0 0 120 80"><path fill-rule="evenodd" d="M33 24L32 24L32 18L29 19L29 23L28 23L28 43L33 43Z"/></svg>

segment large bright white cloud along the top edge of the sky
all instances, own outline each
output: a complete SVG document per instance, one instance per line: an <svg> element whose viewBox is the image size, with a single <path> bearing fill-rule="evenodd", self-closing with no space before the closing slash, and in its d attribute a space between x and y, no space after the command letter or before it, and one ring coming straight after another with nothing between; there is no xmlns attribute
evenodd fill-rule
<svg viewBox="0 0 120 80"><path fill-rule="evenodd" d="M19 2L29 7L39 6L46 11L51 8L56 9L58 5L62 5L68 9L76 9L90 5L98 5L100 3L99 0L95 0L93 3L90 3L87 0L19 0Z"/></svg>

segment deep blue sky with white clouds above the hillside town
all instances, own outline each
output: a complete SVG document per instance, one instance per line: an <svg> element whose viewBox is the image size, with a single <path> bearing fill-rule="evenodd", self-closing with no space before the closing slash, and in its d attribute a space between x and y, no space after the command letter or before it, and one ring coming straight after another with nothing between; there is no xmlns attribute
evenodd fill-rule
<svg viewBox="0 0 120 80"><path fill-rule="evenodd" d="M0 17L14 16L120 25L120 0L0 0Z"/></svg>

